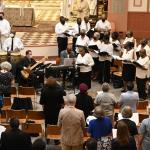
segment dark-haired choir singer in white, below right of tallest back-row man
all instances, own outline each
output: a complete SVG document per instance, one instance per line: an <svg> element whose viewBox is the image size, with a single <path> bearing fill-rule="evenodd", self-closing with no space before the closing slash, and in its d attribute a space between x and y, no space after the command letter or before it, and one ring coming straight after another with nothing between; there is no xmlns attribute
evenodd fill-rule
<svg viewBox="0 0 150 150"><path fill-rule="evenodd" d="M119 33L113 32L110 37L110 43L113 45L113 55L121 55L121 43L119 41Z"/></svg>

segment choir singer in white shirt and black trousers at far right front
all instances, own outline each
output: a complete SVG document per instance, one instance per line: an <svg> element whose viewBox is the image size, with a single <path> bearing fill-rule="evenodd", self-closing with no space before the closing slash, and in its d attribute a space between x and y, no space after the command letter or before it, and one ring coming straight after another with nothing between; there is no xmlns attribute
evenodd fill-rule
<svg viewBox="0 0 150 150"><path fill-rule="evenodd" d="M141 49L139 59L136 65L136 84L140 99L146 99L146 81L149 77L149 57L146 55L146 50Z"/></svg>

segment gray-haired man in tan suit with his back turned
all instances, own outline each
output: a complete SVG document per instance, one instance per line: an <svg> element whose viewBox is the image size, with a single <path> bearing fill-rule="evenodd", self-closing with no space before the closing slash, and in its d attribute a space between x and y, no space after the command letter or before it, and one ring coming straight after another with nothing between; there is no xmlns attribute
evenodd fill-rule
<svg viewBox="0 0 150 150"><path fill-rule="evenodd" d="M85 118L83 111L76 109L76 96L67 95L66 106L60 110L58 125L61 127L62 150L82 150Z"/></svg>

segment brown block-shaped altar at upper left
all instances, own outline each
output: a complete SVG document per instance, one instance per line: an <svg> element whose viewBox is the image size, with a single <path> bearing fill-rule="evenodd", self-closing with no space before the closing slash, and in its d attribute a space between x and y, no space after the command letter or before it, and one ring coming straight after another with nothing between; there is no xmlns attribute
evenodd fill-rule
<svg viewBox="0 0 150 150"><path fill-rule="evenodd" d="M35 12L32 7L6 7L4 14L11 26L33 26L35 23Z"/></svg>

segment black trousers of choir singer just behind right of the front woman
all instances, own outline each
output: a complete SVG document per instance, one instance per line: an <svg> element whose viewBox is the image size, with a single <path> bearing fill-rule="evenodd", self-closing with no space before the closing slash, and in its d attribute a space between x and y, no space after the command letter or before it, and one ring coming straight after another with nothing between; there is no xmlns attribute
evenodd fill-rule
<svg viewBox="0 0 150 150"><path fill-rule="evenodd" d="M99 82L110 82L110 66L111 62L109 60L99 61Z"/></svg>

